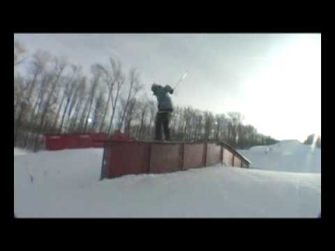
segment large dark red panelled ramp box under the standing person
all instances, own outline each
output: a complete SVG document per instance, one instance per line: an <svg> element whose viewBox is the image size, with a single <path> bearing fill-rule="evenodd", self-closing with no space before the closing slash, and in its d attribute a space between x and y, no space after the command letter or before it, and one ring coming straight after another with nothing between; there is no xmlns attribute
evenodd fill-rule
<svg viewBox="0 0 335 251"><path fill-rule="evenodd" d="M225 163L248 168L251 162L224 142L105 142L102 178L161 174Z"/></svg>

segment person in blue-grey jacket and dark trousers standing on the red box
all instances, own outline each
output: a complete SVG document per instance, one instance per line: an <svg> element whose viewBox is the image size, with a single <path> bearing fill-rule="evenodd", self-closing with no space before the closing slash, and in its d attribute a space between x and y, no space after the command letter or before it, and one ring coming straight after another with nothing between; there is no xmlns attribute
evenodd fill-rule
<svg viewBox="0 0 335 251"><path fill-rule="evenodd" d="M162 140L162 126L164 130L165 140L170 141L170 118L173 112L172 101L168 93L172 94L173 89L170 85L165 87L159 84L152 84L151 91L156 96L158 101L158 112L156 114L155 123L155 140Z"/></svg>

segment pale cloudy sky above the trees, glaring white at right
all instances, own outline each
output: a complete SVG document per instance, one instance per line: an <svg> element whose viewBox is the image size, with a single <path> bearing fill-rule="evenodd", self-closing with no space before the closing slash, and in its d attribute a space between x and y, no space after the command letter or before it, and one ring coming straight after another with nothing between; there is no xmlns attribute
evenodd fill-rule
<svg viewBox="0 0 335 251"><path fill-rule="evenodd" d="M174 105L241 112L276 139L321 134L320 33L15 34L30 54L47 50L89 72L112 56L153 82L174 86Z"/></svg>

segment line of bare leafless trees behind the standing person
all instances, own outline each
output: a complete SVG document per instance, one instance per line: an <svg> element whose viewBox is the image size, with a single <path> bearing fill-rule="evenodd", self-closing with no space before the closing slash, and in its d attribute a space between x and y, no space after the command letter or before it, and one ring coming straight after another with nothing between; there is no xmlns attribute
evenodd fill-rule
<svg viewBox="0 0 335 251"><path fill-rule="evenodd" d="M112 135L114 130L136 139L153 139L156 101L147 98L135 68L124 73L121 62L110 59L107 65L92 65L87 77L80 66L48 52L27 55L15 40L15 146L36 151L45 134ZM275 142L242 121L237 112L226 116L175 107L170 127L174 140L225 140L237 147Z"/></svg>

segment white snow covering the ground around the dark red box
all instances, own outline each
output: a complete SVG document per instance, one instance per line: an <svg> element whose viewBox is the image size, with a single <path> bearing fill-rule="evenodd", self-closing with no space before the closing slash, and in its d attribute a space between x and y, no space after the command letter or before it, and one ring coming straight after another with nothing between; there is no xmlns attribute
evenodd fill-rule
<svg viewBox="0 0 335 251"><path fill-rule="evenodd" d="M297 142L239 151L251 169L103 181L102 149L15 152L24 153L14 158L17 218L316 218L321 210L320 149Z"/></svg>

